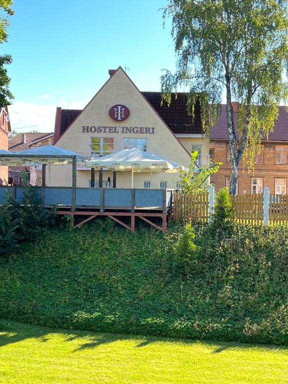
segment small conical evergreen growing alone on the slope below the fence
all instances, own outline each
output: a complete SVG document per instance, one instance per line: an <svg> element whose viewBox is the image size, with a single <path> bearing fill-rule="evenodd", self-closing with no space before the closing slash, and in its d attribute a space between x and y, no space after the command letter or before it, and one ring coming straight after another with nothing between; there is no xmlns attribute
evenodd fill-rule
<svg viewBox="0 0 288 384"><path fill-rule="evenodd" d="M172 268L176 275L189 276L197 264L199 247L194 243L195 233L190 223L184 225L183 234L176 246Z"/></svg>

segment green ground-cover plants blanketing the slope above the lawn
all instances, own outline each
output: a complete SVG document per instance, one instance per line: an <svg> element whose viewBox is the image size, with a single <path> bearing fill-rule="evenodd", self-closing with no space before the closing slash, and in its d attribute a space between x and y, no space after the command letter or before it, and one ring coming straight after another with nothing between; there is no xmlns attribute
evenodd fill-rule
<svg viewBox="0 0 288 384"><path fill-rule="evenodd" d="M196 223L196 265L173 271L183 224L130 233L96 219L0 259L0 316L107 332L288 345L288 231Z"/></svg>

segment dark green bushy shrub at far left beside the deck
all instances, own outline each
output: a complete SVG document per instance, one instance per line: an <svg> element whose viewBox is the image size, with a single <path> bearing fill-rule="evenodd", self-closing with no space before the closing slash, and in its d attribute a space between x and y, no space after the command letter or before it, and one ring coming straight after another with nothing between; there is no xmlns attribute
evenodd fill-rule
<svg viewBox="0 0 288 384"><path fill-rule="evenodd" d="M22 241L38 240L53 223L53 213L42 207L38 187L24 186L20 202L7 191L0 205L0 256L8 258Z"/></svg>

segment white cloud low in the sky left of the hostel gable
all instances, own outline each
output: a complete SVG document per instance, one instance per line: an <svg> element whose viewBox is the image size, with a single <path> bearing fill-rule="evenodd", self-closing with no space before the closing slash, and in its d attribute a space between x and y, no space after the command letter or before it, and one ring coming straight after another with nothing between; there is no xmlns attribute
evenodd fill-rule
<svg viewBox="0 0 288 384"><path fill-rule="evenodd" d="M68 109L82 109L89 100L67 102L61 100L58 105ZM25 101L15 101L8 106L11 129L17 132L37 130L53 132L55 124L56 105L38 105Z"/></svg>

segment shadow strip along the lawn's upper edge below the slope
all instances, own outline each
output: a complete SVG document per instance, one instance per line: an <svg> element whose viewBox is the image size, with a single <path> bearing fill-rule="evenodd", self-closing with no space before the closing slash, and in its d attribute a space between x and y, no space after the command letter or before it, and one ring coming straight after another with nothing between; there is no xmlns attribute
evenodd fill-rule
<svg viewBox="0 0 288 384"><path fill-rule="evenodd" d="M49 335L58 334L63 336L64 342L71 342L77 339L82 339L83 343L75 348L73 351L82 351L85 349L96 348L99 345L111 343L119 340L138 340L139 343L135 345L136 348L148 346L156 342L173 343L173 344L186 344L194 345L195 343L201 343L207 345L213 350L212 353L221 353L225 350L236 349L256 349L257 351L272 351L280 353L283 351L288 352L288 348L284 346L274 345L261 345L261 344L244 344L228 341L207 341L207 340L189 340L181 338L168 338L168 337L153 337L153 336L139 336L139 335L123 335L118 333L98 333L83 330L74 329L59 329L49 328L44 326L30 325L17 321L10 321L7 319L0 319L0 348L16 343L28 338L37 338L41 342L47 342Z"/></svg>

